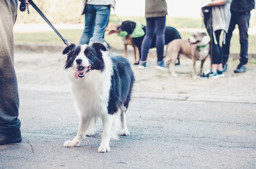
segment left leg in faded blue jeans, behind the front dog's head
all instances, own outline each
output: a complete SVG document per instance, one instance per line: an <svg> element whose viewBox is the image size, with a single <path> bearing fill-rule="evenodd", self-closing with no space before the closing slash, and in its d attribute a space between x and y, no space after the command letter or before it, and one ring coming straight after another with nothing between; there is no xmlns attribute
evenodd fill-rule
<svg viewBox="0 0 256 169"><path fill-rule="evenodd" d="M94 5L85 5L85 21L84 30L79 40L79 45L89 44L90 38L93 36L94 23L96 18L96 9Z"/></svg>

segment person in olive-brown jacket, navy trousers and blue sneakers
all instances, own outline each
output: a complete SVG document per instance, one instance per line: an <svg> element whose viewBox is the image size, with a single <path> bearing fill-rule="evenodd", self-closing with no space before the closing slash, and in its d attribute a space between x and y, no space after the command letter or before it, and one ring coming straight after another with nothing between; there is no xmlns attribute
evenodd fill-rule
<svg viewBox="0 0 256 169"><path fill-rule="evenodd" d="M146 68L146 59L154 34L156 34L157 64L156 69L166 68L163 61L165 22L167 15L167 4L165 0L146 0L145 17L146 17L146 35L142 41L141 60L139 69Z"/></svg>

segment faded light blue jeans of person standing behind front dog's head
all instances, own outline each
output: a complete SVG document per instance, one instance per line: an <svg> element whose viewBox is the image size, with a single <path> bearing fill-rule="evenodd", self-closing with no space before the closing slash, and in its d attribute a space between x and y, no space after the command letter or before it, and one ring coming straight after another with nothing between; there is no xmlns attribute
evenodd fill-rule
<svg viewBox="0 0 256 169"><path fill-rule="evenodd" d="M110 5L90 5L85 6L84 31L79 40L79 44L88 44L90 38L92 42L103 42L105 28L108 25Z"/></svg>

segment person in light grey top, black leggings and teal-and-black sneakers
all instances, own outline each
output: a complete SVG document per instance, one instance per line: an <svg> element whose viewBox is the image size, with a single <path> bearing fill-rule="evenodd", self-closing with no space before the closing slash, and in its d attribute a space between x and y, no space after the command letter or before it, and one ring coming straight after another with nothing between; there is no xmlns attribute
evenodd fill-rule
<svg viewBox="0 0 256 169"><path fill-rule="evenodd" d="M231 0L213 0L211 4L202 8L204 24L211 37L211 67L203 75L200 75L200 78L206 79L225 76L222 70L222 49L219 41L222 30L224 31L223 41L225 41L225 36L229 28L231 18L230 2Z"/></svg>

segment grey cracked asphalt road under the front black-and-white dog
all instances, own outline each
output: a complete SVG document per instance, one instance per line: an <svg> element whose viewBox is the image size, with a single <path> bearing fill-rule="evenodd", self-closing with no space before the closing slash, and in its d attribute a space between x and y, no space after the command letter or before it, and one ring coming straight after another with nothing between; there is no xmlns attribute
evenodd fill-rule
<svg viewBox="0 0 256 169"><path fill-rule="evenodd" d="M20 90L22 143L0 146L0 168L255 168L255 104L133 98L129 136L98 153L102 123L79 147L69 92Z"/></svg>

